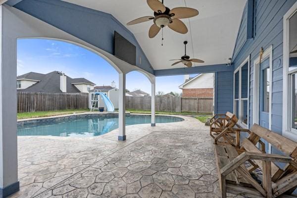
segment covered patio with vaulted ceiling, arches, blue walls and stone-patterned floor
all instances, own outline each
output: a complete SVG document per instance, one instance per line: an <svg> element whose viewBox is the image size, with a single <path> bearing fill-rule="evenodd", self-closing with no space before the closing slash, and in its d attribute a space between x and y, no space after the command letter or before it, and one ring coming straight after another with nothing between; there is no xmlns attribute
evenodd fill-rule
<svg viewBox="0 0 297 198"><path fill-rule="evenodd" d="M0 1L0 198L221 197L209 127L185 116L156 125L158 76L214 73L214 114L230 111L243 129L258 124L297 141L296 0L162 3L198 9L198 16L182 18L187 34L164 28L150 39L151 23L126 25L153 14L142 0ZM135 63L115 55L115 32L135 47ZM16 48L25 38L72 43L108 61L119 73L118 129L85 139L17 137ZM173 68L170 60L184 55L184 41L187 54L203 61ZM149 125L125 126L131 71L151 83ZM263 152L280 154L264 143Z"/></svg>

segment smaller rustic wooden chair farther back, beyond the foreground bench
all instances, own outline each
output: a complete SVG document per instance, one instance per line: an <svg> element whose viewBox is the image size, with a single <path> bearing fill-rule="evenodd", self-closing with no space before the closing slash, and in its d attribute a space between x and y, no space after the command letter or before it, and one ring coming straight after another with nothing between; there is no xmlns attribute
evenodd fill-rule
<svg viewBox="0 0 297 198"><path fill-rule="evenodd" d="M238 130L241 128L237 125L238 118L235 114L227 112L226 114L216 114L210 119L210 136L215 140L215 144L222 138L220 144L236 145L239 140Z"/></svg>

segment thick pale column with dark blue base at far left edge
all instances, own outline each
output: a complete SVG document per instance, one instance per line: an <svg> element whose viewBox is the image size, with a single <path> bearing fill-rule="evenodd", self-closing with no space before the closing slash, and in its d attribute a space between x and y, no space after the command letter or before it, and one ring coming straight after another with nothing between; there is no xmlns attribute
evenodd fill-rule
<svg viewBox="0 0 297 198"><path fill-rule="evenodd" d="M6 16L6 15L5 15ZM19 190L16 134L15 26L0 5L0 198Z"/></svg>

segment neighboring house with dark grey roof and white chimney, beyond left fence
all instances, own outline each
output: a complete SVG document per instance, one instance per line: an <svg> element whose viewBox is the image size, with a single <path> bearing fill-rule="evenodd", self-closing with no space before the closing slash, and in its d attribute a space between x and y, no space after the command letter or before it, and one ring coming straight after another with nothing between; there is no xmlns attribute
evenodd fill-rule
<svg viewBox="0 0 297 198"><path fill-rule="evenodd" d="M18 76L16 82L17 91L39 93L88 93L95 86L85 78L70 78L58 71L48 74L29 72Z"/></svg>

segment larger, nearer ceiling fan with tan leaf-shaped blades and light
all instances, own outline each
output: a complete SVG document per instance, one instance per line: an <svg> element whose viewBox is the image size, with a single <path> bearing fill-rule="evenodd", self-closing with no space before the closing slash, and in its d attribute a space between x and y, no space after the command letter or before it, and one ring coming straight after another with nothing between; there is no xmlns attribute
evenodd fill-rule
<svg viewBox="0 0 297 198"><path fill-rule="evenodd" d="M187 26L179 19L190 18L198 15L198 10L190 7L175 7L169 9L159 0L147 0L148 6L154 11L154 16L144 16L127 23L134 25L146 21L153 20L153 25L149 28L148 37L155 37L161 28L168 26L175 32L186 34Z"/></svg>

